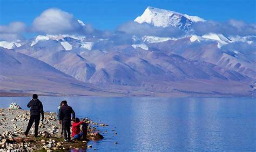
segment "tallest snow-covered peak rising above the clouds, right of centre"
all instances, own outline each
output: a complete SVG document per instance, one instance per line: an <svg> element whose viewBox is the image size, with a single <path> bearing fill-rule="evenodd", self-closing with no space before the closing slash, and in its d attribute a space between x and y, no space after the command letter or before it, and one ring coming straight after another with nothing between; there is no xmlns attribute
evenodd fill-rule
<svg viewBox="0 0 256 152"><path fill-rule="evenodd" d="M175 26L183 30L189 30L192 23L205 20L197 16L188 16L174 11L147 7L142 16L137 17L134 21L140 24L148 23L161 27Z"/></svg>

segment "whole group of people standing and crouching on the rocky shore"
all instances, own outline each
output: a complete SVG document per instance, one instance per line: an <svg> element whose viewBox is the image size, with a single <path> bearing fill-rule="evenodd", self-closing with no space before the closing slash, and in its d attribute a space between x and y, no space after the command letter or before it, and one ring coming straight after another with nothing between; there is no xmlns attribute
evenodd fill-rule
<svg viewBox="0 0 256 152"><path fill-rule="evenodd" d="M24 134L25 136L28 136L33 122L35 122L35 137L37 137L41 118L40 115L42 115L41 121L44 120L43 104L38 99L38 96L34 94L32 96L32 100L30 100L27 106L30 108L30 119ZM70 133L71 115L73 121L72 134ZM73 140L79 140L81 137L83 137L83 140L86 140L87 124L85 121L80 121L79 118L75 117L75 111L73 111L72 107L68 105L66 100L63 100L57 107L56 117L58 120L58 135L60 137L64 135L64 141L70 141L71 137ZM80 125L82 125L82 131L80 129Z"/></svg>

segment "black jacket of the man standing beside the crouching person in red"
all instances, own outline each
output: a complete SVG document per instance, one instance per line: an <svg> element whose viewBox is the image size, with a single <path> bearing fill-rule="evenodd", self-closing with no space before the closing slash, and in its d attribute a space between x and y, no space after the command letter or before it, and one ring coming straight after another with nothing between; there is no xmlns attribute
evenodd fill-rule
<svg viewBox="0 0 256 152"><path fill-rule="evenodd" d="M63 105L60 110L60 120L63 122L70 122L71 121L71 114L72 114L72 119L75 119L75 112L73 111L71 106L68 105Z"/></svg>

